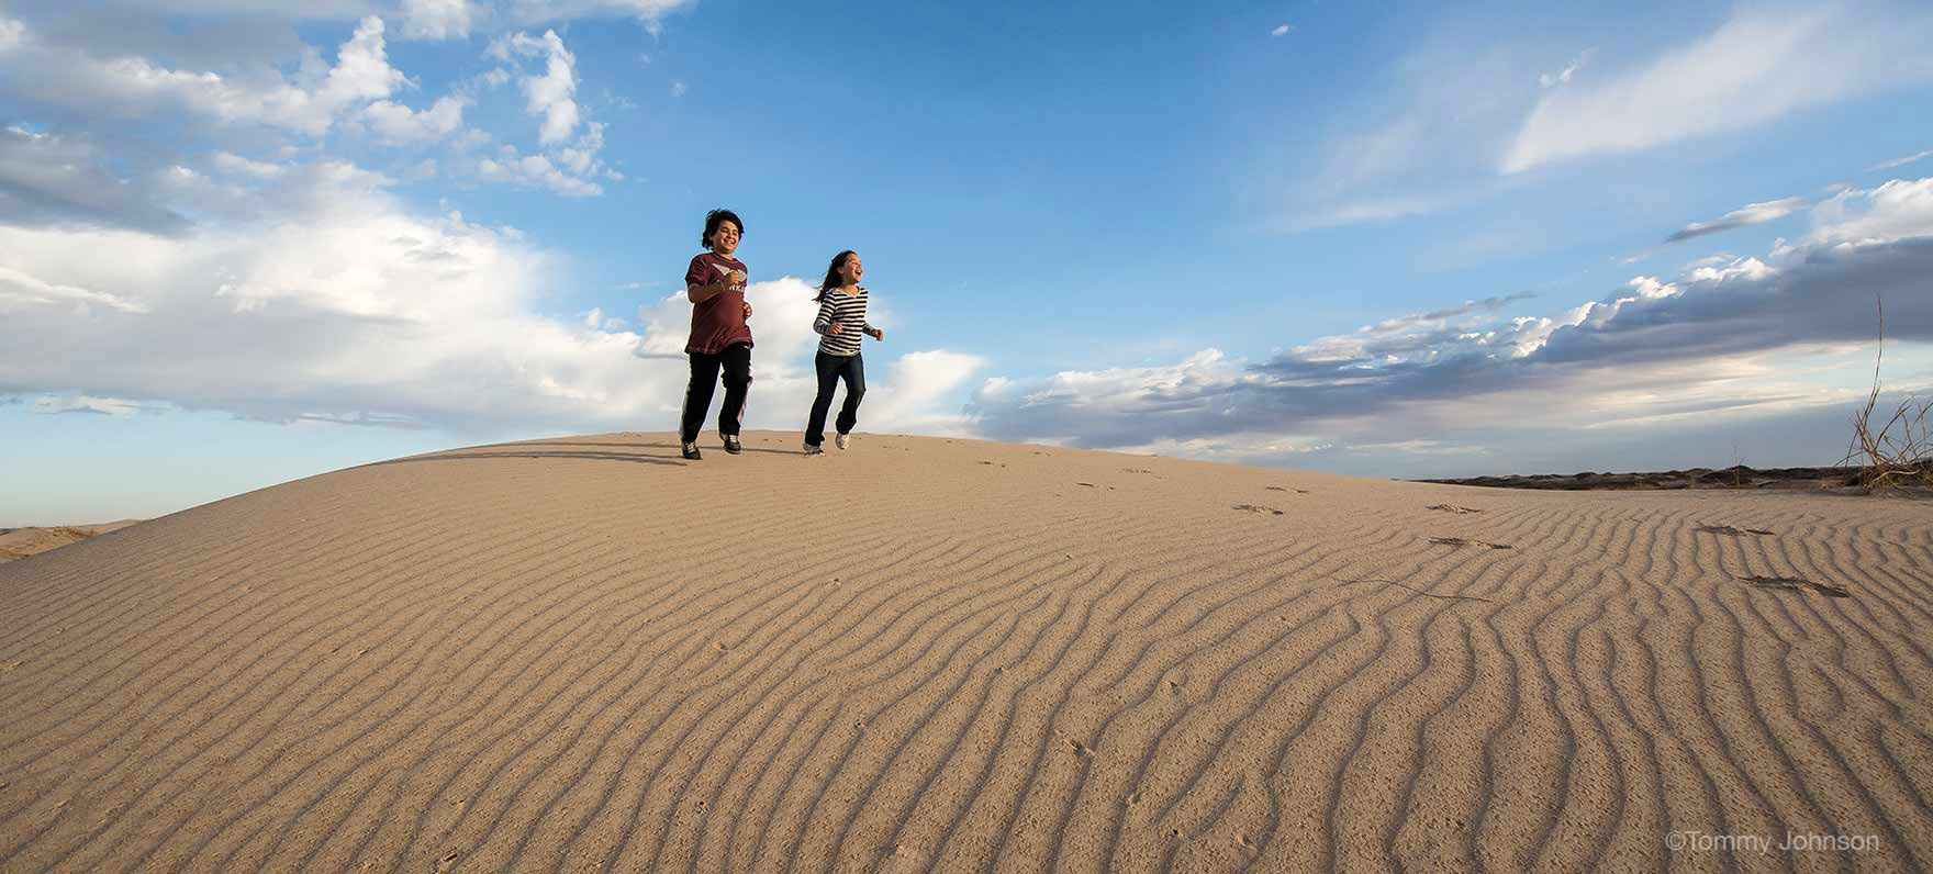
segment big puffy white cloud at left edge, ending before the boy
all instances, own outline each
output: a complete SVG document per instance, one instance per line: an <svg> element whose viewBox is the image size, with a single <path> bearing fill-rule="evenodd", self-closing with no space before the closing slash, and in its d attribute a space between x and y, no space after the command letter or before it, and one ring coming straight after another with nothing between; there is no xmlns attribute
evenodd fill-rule
<svg viewBox="0 0 1933 874"><path fill-rule="evenodd" d="M0 228L0 387L526 427L615 423L671 391L640 373L636 335L532 315L549 255L508 228L412 215L344 164L292 170L263 201L276 220L189 238Z"/></svg>

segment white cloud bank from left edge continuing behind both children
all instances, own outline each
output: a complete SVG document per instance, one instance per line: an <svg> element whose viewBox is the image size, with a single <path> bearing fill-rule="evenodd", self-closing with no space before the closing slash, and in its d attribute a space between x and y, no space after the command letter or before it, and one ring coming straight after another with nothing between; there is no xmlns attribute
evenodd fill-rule
<svg viewBox="0 0 1933 874"><path fill-rule="evenodd" d="M470 433L671 425L682 290L636 323L543 315L559 265L514 228L416 213L389 178L340 160L218 164L255 188L188 234L0 226L0 394ZM796 427L814 391L812 290L781 277L748 298L750 423ZM885 364L868 427L945 423L922 404L970 369L949 352Z"/></svg>

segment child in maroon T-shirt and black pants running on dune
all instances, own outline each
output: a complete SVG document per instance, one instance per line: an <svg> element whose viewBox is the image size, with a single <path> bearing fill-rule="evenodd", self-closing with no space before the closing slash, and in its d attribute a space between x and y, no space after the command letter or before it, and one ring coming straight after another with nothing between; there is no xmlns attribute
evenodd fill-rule
<svg viewBox="0 0 1933 874"><path fill-rule="evenodd" d="M684 271L684 294L692 298L692 336L684 354L692 356L692 385L684 391L684 414L678 437L686 458L698 454L698 425L711 408L711 391L719 373L725 377L725 404L719 408L719 437L725 451L738 454L738 425L744 422L744 396L752 387L752 304L744 302L744 261L733 257L744 222L729 209L706 213L706 232L700 242L709 251L692 257Z"/></svg>

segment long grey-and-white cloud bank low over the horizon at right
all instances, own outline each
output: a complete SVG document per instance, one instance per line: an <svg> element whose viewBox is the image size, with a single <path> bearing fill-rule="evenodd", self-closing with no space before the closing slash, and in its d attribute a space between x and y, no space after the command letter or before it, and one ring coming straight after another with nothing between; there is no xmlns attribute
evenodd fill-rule
<svg viewBox="0 0 1933 874"><path fill-rule="evenodd" d="M1179 364L986 379L974 427L1082 447L1456 443L1471 429L1577 429L1817 402L1773 354L1887 336L1933 340L1933 178L1850 189L1767 259L1635 277L1543 317L1494 319L1504 298L1324 336L1268 362L1202 350ZM1467 445L1467 443L1456 443Z"/></svg>

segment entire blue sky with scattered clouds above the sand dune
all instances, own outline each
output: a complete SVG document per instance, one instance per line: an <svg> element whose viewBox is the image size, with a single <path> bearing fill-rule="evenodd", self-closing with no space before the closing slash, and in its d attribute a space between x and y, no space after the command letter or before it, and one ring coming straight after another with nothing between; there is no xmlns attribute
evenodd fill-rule
<svg viewBox="0 0 1933 874"><path fill-rule="evenodd" d="M862 431L1369 476L1831 464L1933 387L1923 4L0 4L0 526L673 427L746 218ZM709 439L709 437L707 437Z"/></svg>

